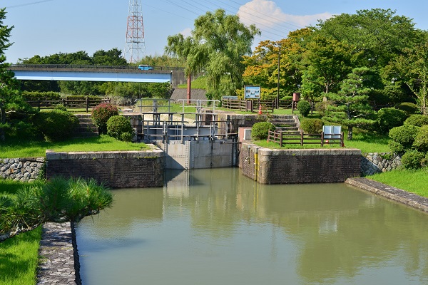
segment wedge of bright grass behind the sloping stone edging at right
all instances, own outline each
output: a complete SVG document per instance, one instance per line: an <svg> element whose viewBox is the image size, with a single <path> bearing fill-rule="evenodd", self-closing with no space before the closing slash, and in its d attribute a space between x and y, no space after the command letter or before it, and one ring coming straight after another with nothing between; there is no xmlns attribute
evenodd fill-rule
<svg viewBox="0 0 428 285"><path fill-rule="evenodd" d="M422 197L428 197L428 168L422 170L392 170L366 177Z"/></svg>

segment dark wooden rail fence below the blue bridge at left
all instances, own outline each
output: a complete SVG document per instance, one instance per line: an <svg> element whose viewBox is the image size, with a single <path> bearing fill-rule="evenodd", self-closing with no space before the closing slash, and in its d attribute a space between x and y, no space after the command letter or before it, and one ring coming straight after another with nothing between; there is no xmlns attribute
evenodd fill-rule
<svg viewBox="0 0 428 285"><path fill-rule="evenodd" d="M67 97L63 99L50 100L48 98L37 98L36 100L26 100L31 107L36 108L54 108L56 105L63 105L66 108L85 108L86 113L88 109L96 107L101 103L110 103L109 98L88 98L88 97Z"/></svg>

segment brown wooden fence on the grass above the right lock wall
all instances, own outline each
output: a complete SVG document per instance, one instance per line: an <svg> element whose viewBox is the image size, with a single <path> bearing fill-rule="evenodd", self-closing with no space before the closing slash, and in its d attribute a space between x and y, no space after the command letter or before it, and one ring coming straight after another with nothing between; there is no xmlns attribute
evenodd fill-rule
<svg viewBox="0 0 428 285"><path fill-rule="evenodd" d="M320 133L320 134L305 134L303 132L290 133L288 131L275 130L269 131L267 142L276 142L283 147L284 145L333 145L339 144L341 147L343 143L343 133L340 135Z"/></svg>

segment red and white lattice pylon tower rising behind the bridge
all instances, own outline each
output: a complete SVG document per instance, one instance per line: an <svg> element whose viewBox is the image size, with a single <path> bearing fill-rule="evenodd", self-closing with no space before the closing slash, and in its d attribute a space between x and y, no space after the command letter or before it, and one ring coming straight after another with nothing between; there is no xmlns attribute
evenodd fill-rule
<svg viewBox="0 0 428 285"><path fill-rule="evenodd" d="M129 0L128 24L123 57L129 63L138 63L146 56L144 43L143 6L141 0Z"/></svg>

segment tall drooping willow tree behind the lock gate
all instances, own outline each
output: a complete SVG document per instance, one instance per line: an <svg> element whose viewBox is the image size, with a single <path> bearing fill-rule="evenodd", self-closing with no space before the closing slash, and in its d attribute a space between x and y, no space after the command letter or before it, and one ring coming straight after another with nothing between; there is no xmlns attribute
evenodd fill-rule
<svg viewBox="0 0 428 285"><path fill-rule="evenodd" d="M220 98L220 94L232 95L242 88L243 56L251 54L257 34L260 31L254 25L247 27L238 16L218 9L195 20L191 37L180 34L168 37L165 51L187 61L187 74L205 71L208 93Z"/></svg>

